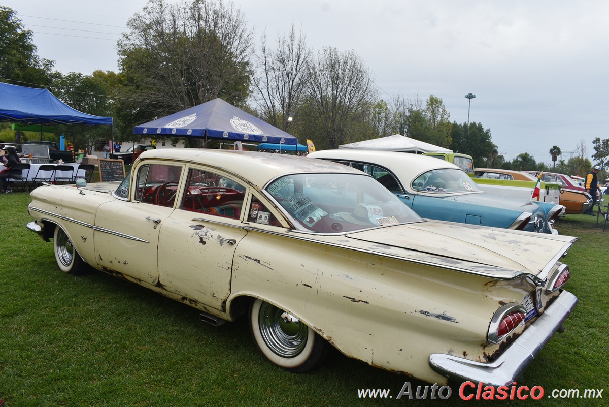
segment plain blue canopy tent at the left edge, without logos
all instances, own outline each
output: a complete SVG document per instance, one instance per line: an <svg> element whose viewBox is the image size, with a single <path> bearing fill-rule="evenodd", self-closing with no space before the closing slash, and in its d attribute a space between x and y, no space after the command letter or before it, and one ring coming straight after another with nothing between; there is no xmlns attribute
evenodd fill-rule
<svg viewBox="0 0 609 407"><path fill-rule="evenodd" d="M112 126L111 117L88 115L69 107L47 89L26 88L0 82L0 121L52 126L72 124L72 141L74 142L74 125ZM114 129L112 130L114 132ZM40 133L42 138L42 132ZM76 144L76 143L74 143Z"/></svg>

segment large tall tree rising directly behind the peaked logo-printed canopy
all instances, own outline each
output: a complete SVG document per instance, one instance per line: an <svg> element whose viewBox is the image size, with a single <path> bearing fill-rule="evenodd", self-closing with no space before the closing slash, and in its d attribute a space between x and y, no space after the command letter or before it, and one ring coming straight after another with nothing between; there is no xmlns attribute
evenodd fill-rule
<svg viewBox="0 0 609 407"><path fill-rule="evenodd" d="M121 71L136 99L163 114L222 97L244 103L253 32L222 0L150 0L118 42Z"/></svg>

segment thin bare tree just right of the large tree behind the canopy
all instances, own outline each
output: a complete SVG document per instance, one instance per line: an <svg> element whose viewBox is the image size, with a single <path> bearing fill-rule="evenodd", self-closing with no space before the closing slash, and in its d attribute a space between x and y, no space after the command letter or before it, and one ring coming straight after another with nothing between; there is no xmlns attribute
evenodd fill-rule
<svg viewBox="0 0 609 407"><path fill-rule="evenodd" d="M255 55L259 69L253 77L256 104L264 120L287 131L287 115L297 113L300 107L311 51L306 47L302 27L297 37L294 23L287 36L277 35L276 49L267 47L266 34L261 42Z"/></svg>

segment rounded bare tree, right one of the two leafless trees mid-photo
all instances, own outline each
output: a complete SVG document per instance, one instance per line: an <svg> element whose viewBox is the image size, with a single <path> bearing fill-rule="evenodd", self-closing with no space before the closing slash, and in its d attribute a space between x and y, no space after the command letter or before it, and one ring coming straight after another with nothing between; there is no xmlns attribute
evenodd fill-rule
<svg viewBox="0 0 609 407"><path fill-rule="evenodd" d="M308 79L305 111L336 149L376 103L372 73L354 51L324 48L309 64Z"/></svg>

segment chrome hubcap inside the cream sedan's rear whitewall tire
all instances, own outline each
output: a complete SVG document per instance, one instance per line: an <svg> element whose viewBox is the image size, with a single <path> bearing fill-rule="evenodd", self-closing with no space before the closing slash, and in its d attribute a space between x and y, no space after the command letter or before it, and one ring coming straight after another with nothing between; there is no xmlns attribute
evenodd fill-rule
<svg viewBox="0 0 609 407"><path fill-rule="evenodd" d="M274 353L283 358L294 358L305 349L309 328L295 317L284 319L281 314L284 314L283 310L262 303L258 314L260 333Z"/></svg>

